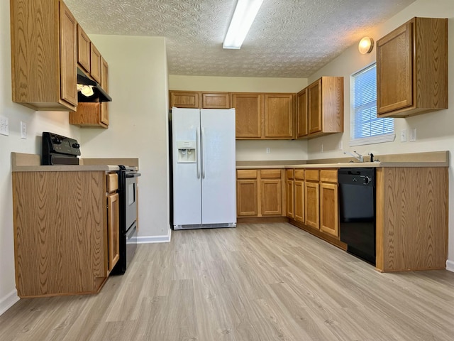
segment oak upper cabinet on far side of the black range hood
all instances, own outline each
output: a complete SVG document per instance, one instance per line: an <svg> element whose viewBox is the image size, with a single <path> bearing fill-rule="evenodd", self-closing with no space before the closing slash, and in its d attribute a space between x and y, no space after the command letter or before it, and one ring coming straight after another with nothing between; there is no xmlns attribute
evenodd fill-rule
<svg viewBox="0 0 454 341"><path fill-rule="evenodd" d="M101 87L109 93L109 65L101 57ZM80 127L109 128L109 102L80 102L70 112L70 124Z"/></svg>

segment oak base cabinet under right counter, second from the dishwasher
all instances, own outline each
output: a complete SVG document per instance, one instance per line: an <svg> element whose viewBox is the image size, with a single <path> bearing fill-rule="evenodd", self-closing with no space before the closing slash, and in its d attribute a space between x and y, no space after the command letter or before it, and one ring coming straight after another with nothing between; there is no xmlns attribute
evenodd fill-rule
<svg viewBox="0 0 454 341"><path fill-rule="evenodd" d="M304 223L314 229L319 229L320 225L320 188L319 170L306 169L304 171Z"/></svg>

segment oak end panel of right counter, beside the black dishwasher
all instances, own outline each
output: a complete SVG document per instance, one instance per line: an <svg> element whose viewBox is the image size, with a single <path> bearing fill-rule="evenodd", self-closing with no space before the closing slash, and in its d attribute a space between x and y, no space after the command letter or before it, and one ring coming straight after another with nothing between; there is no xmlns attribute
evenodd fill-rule
<svg viewBox="0 0 454 341"><path fill-rule="evenodd" d="M445 269L448 168L377 169L377 269Z"/></svg>

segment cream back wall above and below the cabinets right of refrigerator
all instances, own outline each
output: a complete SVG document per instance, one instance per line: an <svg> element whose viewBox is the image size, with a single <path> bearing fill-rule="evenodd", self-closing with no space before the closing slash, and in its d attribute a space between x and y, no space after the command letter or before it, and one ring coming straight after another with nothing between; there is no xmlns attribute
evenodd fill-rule
<svg viewBox="0 0 454 341"><path fill-rule="evenodd" d="M224 92L299 92L307 86L306 78L201 77L169 75L171 90ZM270 148L270 153L266 153ZM237 161L307 160L304 140L238 140Z"/></svg>

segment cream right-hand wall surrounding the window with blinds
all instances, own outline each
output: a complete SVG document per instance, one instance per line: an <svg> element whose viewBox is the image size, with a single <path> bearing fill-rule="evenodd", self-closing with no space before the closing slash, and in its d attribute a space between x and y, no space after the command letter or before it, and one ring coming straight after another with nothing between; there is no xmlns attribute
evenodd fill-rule
<svg viewBox="0 0 454 341"><path fill-rule="evenodd" d="M371 36L376 41L390 31L401 26L403 23L414 16L449 18L448 20L448 70L449 93L452 94L454 89L454 1L453 0L418 0L396 16L389 19L374 31L365 32L365 36ZM454 152L454 97L449 96L449 109L440 112L422 114L416 117L394 120L394 131L396 139L393 142L384 144L372 144L366 146L349 147L350 141L350 75L363 67L375 62L375 49L370 55L360 55L357 45L353 45L340 55L336 60L329 63L314 75L309 77L312 82L319 77L326 76L343 76L345 92L345 121L344 133L333 134L332 136L321 137L309 141L309 157L317 158L336 158L343 156L343 151L338 150L338 144L342 141L344 151L356 150L359 153L367 154L372 152L376 158L380 159L380 154L395 153L416 153L421 151L450 151ZM416 128L417 139L415 142L409 142L409 129ZM406 142L400 142L400 131L406 130ZM321 145L323 144L323 153ZM454 160L451 157L449 170L449 242L448 242L448 269L454 271Z"/></svg>

